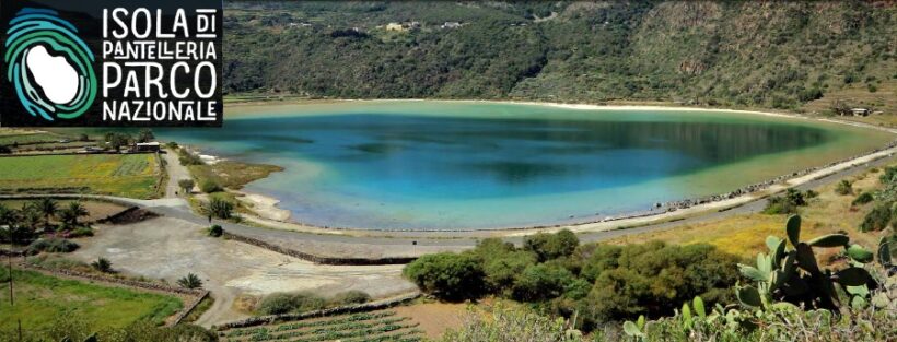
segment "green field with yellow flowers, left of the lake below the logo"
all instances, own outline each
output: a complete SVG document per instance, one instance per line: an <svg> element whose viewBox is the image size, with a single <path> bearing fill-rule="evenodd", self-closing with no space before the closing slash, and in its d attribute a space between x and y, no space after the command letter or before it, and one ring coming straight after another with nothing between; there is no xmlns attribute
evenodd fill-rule
<svg viewBox="0 0 897 342"><path fill-rule="evenodd" d="M0 190L90 192L147 199L162 178L152 154L37 155L0 158Z"/></svg>

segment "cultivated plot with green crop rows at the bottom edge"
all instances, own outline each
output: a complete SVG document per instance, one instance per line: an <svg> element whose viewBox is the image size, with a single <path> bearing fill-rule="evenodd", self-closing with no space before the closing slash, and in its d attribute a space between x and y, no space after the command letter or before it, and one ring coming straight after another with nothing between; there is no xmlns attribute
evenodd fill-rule
<svg viewBox="0 0 897 342"><path fill-rule="evenodd" d="M408 317L384 310L279 322L219 332L222 341L416 342L423 331Z"/></svg>

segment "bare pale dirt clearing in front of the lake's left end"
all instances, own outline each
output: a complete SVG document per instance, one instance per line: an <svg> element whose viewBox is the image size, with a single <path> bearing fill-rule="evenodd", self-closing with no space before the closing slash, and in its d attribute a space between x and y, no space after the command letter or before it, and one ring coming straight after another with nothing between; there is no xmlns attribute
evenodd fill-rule
<svg viewBox="0 0 897 342"><path fill-rule="evenodd" d="M81 239L71 256L90 262L109 259L126 274L175 283L196 273L215 303L197 321L211 325L248 317L234 308L241 294L311 291L329 296L360 290L383 297L415 290L401 278L401 266L319 266L236 241L210 238L203 226L159 217L129 225L100 225L96 235Z"/></svg>

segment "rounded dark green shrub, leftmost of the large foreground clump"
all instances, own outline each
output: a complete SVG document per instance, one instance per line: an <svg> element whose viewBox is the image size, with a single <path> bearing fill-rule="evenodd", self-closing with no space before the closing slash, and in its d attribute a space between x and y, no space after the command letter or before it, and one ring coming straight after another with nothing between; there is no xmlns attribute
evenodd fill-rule
<svg viewBox="0 0 897 342"><path fill-rule="evenodd" d="M435 253L418 258L403 270L405 278L436 297L459 300L482 294L484 272L469 253Z"/></svg>

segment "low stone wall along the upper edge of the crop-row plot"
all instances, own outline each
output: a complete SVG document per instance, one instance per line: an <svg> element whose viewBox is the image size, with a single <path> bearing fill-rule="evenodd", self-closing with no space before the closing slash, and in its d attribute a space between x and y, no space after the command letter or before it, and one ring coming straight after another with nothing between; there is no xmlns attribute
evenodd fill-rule
<svg viewBox="0 0 897 342"><path fill-rule="evenodd" d="M329 309L323 310L313 310L302 314L283 314L283 315L269 315L269 316L259 316L259 317L249 317L246 319L231 321L226 323L222 323L220 326L213 326L213 330L224 331L228 329L236 329L236 328L246 328L246 327L255 327L255 326L265 326L275 322L281 321L293 321L293 320L303 320L308 318L315 317L327 317L327 316L337 316L337 315L345 315L345 314L358 314L358 312L366 312L366 311L375 311L385 308L391 308L397 306L403 303L407 303L420 297L420 292L412 292L399 296L395 296L392 298L374 300L358 305L349 305L349 306L340 306Z"/></svg>

